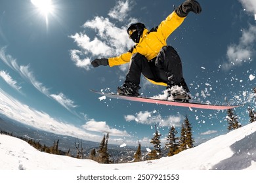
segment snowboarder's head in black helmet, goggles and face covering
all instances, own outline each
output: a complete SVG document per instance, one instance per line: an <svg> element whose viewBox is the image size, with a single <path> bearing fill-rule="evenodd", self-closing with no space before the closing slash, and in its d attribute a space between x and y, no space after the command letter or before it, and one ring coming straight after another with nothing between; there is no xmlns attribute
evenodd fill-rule
<svg viewBox="0 0 256 183"><path fill-rule="evenodd" d="M142 35L146 26L140 22L129 25L127 33L129 37L136 43L140 41L140 36Z"/></svg>

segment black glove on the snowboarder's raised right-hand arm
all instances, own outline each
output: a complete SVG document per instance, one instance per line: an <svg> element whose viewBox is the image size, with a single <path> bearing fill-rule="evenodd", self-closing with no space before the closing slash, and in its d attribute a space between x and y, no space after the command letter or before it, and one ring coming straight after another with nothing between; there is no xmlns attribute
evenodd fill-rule
<svg viewBox="0 0 256 183"><path fill-rule="evenodd" d="M176 10L175 12L178 14L180 17L185 17L188 15L188 13L192 11L196 14L200 14L202 12L202 8L198 1L194 0L186 0L184 3L182 3Z"/></svg>

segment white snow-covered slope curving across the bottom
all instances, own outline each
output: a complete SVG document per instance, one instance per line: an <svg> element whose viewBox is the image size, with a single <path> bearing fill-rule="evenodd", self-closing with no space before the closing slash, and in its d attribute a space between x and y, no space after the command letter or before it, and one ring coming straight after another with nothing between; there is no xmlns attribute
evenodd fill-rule
<svg viewBox="0 0 256 183"><path fill-rule="evenodd" d="M57 156L28 143L0 135L0 169L256 169L256 122L211 139L173 157L123 164L100 164L89 159Z"/></svg>

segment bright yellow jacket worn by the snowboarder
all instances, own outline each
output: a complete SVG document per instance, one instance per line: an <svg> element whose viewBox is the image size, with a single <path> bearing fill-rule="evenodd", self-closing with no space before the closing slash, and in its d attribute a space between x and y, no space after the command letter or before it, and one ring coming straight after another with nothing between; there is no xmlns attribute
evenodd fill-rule
<svg viewBox="0 0 256 183"><path fill-rule="evenodd" d="M134 46L132 52L126 52L115 58L108 58L108 64L110 67L113 67L115 65L128 63L133 54L137 52L144 55L148 60L155 58L161 48L167 45L166 41L169 35L182 24L184 19L185 17L179 17L176 12L172 12L161 22L156 31L148 31L148 29L144 29L139 43ZM150 81L154 82L152 80ZM154 84L167 86L167 84L164 83L154 82Z"/></svg>

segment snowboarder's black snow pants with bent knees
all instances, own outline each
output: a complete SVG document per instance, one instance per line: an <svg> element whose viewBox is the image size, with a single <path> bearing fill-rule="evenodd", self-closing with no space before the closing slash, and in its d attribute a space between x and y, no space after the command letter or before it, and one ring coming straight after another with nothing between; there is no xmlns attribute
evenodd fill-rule
<svg viewBox="0 0 256 183"><path fill-rule="evenodd" d="M182 74L181 58L172 46L163 46L158 56L150 61L142 54L133 54L125 82L139 86L141 73L154 82L164 82L167 87L182 86L189 92Z"/></svg>

